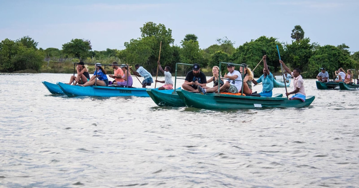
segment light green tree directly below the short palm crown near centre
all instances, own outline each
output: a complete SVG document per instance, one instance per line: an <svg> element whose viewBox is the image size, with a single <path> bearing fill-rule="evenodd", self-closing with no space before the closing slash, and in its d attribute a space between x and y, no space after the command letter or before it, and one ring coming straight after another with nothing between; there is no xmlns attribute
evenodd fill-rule
<svg viewBox="0 0 359 188"><path fill-rule="evenodd" d="M182 40L182 49L180 53L181 63L194 64L198 63L201 67L206 67L207 62L203 62L201 49L199 48L198 41Z"/></svg>

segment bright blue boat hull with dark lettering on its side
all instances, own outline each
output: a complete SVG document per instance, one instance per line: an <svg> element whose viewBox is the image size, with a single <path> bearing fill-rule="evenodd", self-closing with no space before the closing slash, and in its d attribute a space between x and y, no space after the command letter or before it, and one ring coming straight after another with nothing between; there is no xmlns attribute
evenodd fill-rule
<svg viewBox="0 0 359 188"><path fill-rule="evenodd" d="M111 87L111 86L72 86L65 83L57 82L57 86L67 96L93 96L93 97L118 97L118 96L137 96L149 97L146 88L127 88L127 87ZM158 89L154 89L158 90ZM172 90L162 90L171 93Z"/></svg>

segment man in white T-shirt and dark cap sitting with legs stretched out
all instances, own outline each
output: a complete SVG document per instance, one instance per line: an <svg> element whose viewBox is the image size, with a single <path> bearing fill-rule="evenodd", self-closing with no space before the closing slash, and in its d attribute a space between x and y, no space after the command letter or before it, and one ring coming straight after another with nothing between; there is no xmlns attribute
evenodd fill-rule
<svg viewBox="0 0 359 188"><path fill-rule="evenodd" d="M239 71L234 70L233 64L227 64L228 73L225 74L223 77L227 78L228 81L223 84L222 87L215 86L209 89L202 88L201 86L198 86L198 91L204 95L206 93L213 93L218 92L227 92L227 93L239 93L241 92L242 88L242 76Z"/></svg>

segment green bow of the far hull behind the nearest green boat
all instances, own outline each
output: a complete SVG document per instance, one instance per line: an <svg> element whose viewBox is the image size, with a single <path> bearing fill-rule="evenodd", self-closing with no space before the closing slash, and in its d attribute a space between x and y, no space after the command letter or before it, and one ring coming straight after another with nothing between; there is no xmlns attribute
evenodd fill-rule
<svg viewBox="0 0 359 188"><path fill-rule="evenodd" d="M166 90L153 90L152 88L148 88L146 91L148 95L151 97L151 99L158 106L173 106L173 107L186 106L182 98L180 98L180 96L178 96L176 92L173 92L173 90L167 90L167 91L171 91L171 93L163 92Z"/></svg>

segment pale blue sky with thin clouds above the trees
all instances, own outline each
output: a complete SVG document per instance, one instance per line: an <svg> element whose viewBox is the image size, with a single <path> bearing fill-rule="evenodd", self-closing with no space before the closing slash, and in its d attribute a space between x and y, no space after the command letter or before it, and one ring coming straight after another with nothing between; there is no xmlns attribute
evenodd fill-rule
<svg viewBox="0 0 359 188"><path fill-rule="evenodd" d="M62 49L78 38L92 50L122 50L151 21L172 30L174 45L195 34L201 49L224 37L237 48L261 36L291 44L300 25L311 43L358 52L358 8L357 0L0 0L0 41L29 36Z"/></svg>

